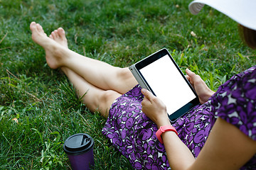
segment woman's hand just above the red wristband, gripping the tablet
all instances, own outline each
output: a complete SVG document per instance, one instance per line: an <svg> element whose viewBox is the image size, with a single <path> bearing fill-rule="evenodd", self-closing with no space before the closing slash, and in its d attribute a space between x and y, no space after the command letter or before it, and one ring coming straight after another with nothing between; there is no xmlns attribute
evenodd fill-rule
<svg viewBox="0 0 256 170"><path fill-rule="evenodd" d="M158 128L163 125L171 125L165 104L150 91L142 89L144 99L142 101L142 112L150 118Z"/></svg>

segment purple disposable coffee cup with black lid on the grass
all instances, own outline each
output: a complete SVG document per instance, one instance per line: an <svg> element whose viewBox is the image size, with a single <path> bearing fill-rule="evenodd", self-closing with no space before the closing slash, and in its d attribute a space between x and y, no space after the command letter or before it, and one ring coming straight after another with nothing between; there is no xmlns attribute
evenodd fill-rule
<svg viewBox="0 0 256 170"><path fill-rule="evenodd" d="M92 169L94 140L86 133L78 133L68 137L63 144L63 149L68 154L68 159L73 170Z"/></svg>

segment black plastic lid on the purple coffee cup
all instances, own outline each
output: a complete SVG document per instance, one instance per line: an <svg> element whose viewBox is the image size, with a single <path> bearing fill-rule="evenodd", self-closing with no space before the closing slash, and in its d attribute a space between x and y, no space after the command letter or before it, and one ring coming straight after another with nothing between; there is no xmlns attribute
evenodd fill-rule
<svg viewBox="0 0 256 170"><path fill-rule="evenodd" d="M86 133L78 133L68 137L63 144L67 154L82 154L89 152L94 146L94 140Z"/></svg>

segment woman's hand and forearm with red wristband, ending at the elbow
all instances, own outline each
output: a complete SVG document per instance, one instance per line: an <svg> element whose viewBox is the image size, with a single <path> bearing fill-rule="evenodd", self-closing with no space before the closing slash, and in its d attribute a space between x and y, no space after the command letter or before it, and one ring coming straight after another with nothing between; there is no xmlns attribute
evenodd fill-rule
<svg viewBox="0 0 256 170"><path fill-rule="evenodd" d="M158 128L171 125L164 103L146 89L142 89L142 94L145 96L142 101L142 112L154 121ZM188 147L183 144L175 132L164 132L161 137L171 169L188 169L195 161Z"/></svg>

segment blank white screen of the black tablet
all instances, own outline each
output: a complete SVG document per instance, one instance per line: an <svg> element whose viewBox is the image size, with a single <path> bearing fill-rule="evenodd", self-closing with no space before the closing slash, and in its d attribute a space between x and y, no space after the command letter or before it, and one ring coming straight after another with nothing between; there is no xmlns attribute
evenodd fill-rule
<svg viewBox="0 0 256 170"><path fill-rule="evenodd" d="M196 98L168 55L140 69L154 94L164 102L169 115Z"/></svg>

